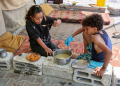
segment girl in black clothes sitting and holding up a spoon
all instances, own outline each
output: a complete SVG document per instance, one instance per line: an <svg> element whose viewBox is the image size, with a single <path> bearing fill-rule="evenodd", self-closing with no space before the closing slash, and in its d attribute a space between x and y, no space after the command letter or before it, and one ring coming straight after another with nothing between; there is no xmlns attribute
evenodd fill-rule
<svg viewBox="0 0 120 86"><path fill-rule="evenodd" d="M30 7L25 19L26 30L30 38L29 42L33 52L47 57L53 54L54 49L59 49L51 42L49 30L52 24L54 27L61 24L61 20L44 16L42 8L39 5Z"/></svg>

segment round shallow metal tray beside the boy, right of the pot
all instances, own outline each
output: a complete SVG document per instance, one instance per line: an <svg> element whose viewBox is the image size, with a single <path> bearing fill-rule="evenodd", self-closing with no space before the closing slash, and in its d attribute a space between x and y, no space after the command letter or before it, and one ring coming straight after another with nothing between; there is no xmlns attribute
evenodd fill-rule
<svg viewBox="0 0 120 86"><path fill-rule="evenodd" d="M80 69L84 69L86 68L88 65L90 64L90 62L86 59L79 59L79 60L75 60L72 62L71 66L73 68L80 68Z"/></svg>

